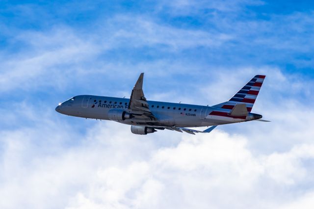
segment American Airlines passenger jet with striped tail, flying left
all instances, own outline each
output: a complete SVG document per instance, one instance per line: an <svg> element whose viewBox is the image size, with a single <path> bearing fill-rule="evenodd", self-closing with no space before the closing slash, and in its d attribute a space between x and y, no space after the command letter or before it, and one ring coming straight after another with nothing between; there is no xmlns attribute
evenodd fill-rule
<svg viewBox="0 0 314 209"><path fill-rule="evenodd" d="M218 125L246 121L263 121L262 115L252 113L252 107L265 76L256 75L229 101L213 106L148 101L143 92L144 73L137 79L130 99L93 95L78 95L59 103L55 110L61 114L111 120L131 125L134 134L146 135L157 130L209 133ZM191 127L209 127L204 131Z"/></svg>

